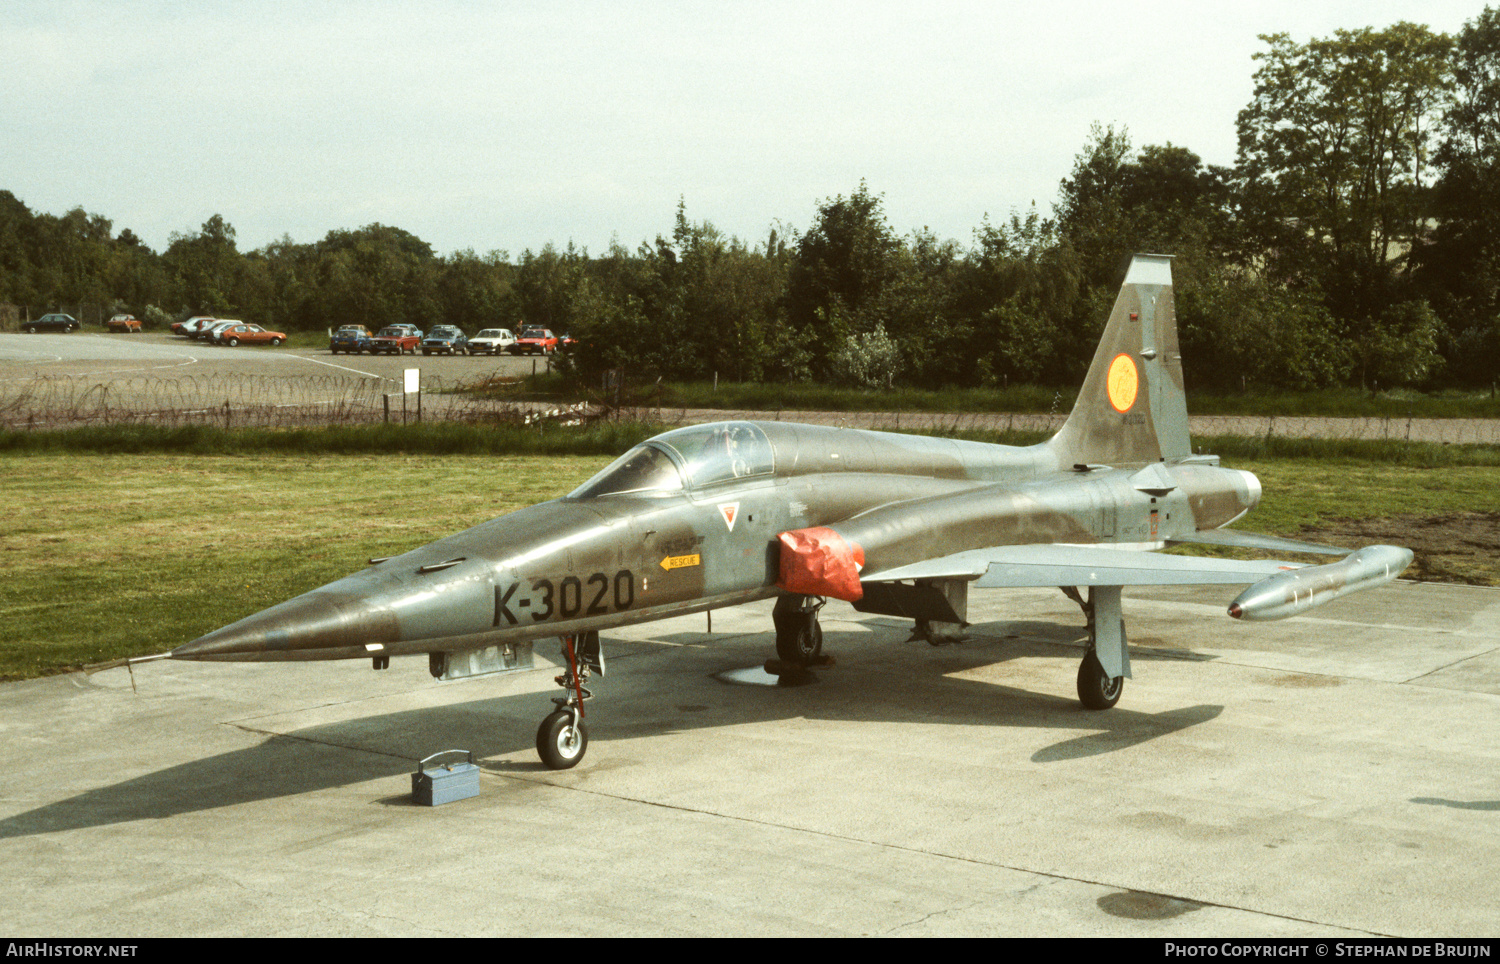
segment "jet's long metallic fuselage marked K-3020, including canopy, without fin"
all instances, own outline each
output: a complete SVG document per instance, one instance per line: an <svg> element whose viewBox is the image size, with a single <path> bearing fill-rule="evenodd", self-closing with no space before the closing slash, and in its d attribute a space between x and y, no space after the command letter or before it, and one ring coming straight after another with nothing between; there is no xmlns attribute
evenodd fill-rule
<svg viewBox="0 0 1500 964"><path fill-rule="evenodd" d="M1160 547L1260 489L1212 459L1059 465L1030 447L792 423L678 429L568 496L384 559L174 651L198 660L464 652L766 598L777 537L831 526L866 577L1028 543Z"/></svg>

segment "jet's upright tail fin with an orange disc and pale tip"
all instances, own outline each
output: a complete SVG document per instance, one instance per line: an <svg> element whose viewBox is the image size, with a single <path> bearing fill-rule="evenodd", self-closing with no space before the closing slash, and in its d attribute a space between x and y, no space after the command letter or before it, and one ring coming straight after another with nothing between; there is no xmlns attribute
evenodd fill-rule
<svg viewBox="0 0 1500 964"><path fill-rule="evenodd" d="M1136 255L1068 421L1062 465L1134 465L1192 454L1170 255Z"/></svg>

